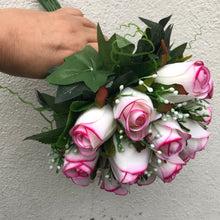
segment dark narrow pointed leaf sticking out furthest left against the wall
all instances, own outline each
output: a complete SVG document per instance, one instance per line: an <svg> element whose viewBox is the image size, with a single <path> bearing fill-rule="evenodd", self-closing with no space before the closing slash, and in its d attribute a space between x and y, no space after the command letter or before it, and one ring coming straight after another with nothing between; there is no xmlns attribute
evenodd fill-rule
<svg viewBox="0 0 220 220"><path fill-rule="evenodd" d="M30 137L25 138L24 140L34 140L39 141L44 144L54 144L57 142L58 137L62 133L64 128L57 128L48 132L43 132L40 134L35 134Z"/></svg>

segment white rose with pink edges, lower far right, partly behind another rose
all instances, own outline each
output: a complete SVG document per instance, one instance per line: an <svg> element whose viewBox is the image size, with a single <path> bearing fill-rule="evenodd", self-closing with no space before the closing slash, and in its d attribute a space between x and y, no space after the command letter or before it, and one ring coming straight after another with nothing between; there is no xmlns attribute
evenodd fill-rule
<svg viewBox="0 0 220 220"><path fill-rule="evenodd" d="M190 119L184 123L184 126L190 129L189 134L191 138L187 141L186 147L180 153L180 157L185 162L188 162L190 159L195 158L196 152L205 148L211 133L203 129L197 122Z"/></svg>

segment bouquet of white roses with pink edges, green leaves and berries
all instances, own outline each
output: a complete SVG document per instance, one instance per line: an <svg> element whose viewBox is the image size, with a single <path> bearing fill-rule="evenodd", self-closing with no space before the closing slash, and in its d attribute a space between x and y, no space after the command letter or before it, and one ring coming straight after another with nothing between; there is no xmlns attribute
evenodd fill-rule
<svg viewBox="0 0 220 220"><path fill-rule="evenodd" d="M87 46L49 70L56 96L37 92L49 128L27 138L50 144L51 168L73 183L99 179L117 195L157 177L171 182L210 136L208 68L183 55L187 43L172 48L170 16L140 19L145 30L122 25L135 33L109 40L98 26L98 52Z"/></svg>

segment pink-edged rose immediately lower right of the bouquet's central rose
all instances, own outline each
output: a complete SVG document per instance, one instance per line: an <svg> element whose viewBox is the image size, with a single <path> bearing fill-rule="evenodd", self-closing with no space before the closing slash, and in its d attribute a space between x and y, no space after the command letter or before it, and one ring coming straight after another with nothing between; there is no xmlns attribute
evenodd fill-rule
<svg viewBox="0 0 220 220"><path fill-rule="evenodd" d="M187 140L191 137L171 117L168 117L167 121L153 122L148 131L146 139L154 145L154 149L160 151L160 154L156 155L162 160L176 157L186 147Z"/></svg>

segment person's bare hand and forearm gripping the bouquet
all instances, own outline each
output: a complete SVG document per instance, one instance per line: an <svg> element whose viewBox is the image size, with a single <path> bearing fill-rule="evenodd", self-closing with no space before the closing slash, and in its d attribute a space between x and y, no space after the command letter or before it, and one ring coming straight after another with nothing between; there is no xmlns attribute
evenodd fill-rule
<svg viewBox="0 0 220 220"><path fill-rule="evenodd" d="M78 9L0 9L0 71L45 78L47 69L86 45L98 50L97 27Z"/></svg>

